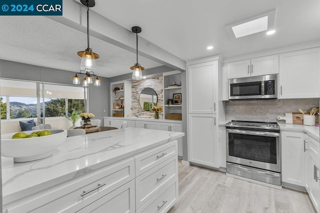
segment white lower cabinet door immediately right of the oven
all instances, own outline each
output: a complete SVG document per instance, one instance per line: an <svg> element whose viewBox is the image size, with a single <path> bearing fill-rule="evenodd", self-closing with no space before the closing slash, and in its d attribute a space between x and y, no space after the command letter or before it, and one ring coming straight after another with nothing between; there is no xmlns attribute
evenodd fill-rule
<svg viewBox="0 0 320 213"><path fill-rule="evenodd" d="M304 186L303 133L281 132L282 181Z"/></svg>

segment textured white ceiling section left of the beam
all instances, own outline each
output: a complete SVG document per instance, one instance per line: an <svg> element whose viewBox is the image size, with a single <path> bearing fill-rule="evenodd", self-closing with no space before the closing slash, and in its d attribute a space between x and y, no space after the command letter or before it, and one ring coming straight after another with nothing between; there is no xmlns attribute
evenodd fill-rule
<svg viewBox="0 0 320 213"><path fill-rule="evenodd" d="M44 16L1 16L0 58L33 65L79 71L76 52L87 47L86 33ZM3 30L5 29L5 30ZM133 52L90 36L90 48L98 53L95 74L112 77L131 72ZM139 56L144 68L162 64Z"/></svg>

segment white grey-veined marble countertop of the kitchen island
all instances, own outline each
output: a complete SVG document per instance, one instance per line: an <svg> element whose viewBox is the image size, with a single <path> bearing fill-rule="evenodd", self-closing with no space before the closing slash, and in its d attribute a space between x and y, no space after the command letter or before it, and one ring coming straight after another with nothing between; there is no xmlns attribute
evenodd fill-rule
<svg viewBox="0 0 320 213"><path fill-rule="evenodd" d="M51 156L41 160L14 163L13 158L2 157L3 204L183 135L183 132L128 127L67 137Z"/></svg>

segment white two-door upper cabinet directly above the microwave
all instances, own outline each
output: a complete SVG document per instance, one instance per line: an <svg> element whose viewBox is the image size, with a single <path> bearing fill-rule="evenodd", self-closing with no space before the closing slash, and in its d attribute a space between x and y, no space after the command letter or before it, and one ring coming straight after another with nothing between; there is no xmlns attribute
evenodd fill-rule
<svg viewBox="0 0 320 213"><path fill-rule="evenodd" d="M227 63L227 78L279 73L279 55L267 55Z"/></svg>

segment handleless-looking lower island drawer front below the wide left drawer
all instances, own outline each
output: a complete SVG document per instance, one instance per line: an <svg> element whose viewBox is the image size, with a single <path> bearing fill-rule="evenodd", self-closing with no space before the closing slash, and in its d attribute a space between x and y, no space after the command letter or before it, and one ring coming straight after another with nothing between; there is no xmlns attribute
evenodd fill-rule
<svg viewBox="0 0 320 213"><path fill-rule="evenodd" d="M85 206L78 213L134 212L134 180Z"/></svg>

